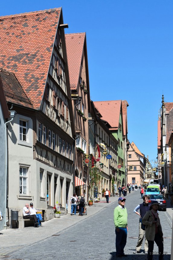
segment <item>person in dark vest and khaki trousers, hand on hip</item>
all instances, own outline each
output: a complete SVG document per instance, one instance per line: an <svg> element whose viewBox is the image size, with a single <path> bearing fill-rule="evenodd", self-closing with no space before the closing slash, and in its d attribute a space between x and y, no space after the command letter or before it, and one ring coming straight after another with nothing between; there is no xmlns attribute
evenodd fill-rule
<svg viewBox="0 0 173 260"><path fill-rule="evenodd" d="M147 211L149 211L151 204L149 204L149 197L148 195L144 195L143 196L143 203L139 204L134 210L133 212L135 212L137 215L139 215L139 236L138 236L138 242L136 245L136 250L133 251L133 254L137 254L140 253L142 244L143 244L143 239L144 239L144 235L145 235L145 230L143 230L141 228L141 223L142 223L142 219L143 216L145 215L145 213ZM139 210L139 212L138 212ZM144 244L144 250L145 250L145 254L148 253L148 241L145 238L145 244Z"/></svg>

